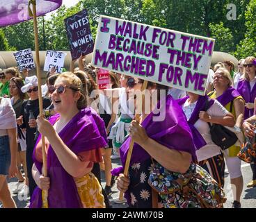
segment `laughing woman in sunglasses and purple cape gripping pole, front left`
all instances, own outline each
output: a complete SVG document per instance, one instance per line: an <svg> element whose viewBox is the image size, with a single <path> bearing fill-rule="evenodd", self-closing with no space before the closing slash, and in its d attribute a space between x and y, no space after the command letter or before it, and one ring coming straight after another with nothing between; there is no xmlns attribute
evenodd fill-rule
<svg viewBox="0 0 256 222"><path fill-rule="evenodd" d="M38 188L30 207L105 207L102 188L91 170L94 162L102 161L100 148L106 146L106 138L99 132L95 114L85 109L86 89L72 73L58 76L54 86L51 99L58 114L49 121L37 119L38 130L46 140L48 177L42 176L42 144L38 137L33 153L33 177ZM42 203L45 190L48 206Z"/></svg>

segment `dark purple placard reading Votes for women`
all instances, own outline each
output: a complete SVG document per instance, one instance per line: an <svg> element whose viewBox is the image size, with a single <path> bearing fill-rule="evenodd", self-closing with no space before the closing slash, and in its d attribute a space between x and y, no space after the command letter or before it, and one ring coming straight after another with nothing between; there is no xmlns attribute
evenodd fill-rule
<svg viewBox="0 0 256 222"><path fill-rule="evenodd" d="M86 9L65 19L65 26L72 60L93 52L93 35Z"/></svg>

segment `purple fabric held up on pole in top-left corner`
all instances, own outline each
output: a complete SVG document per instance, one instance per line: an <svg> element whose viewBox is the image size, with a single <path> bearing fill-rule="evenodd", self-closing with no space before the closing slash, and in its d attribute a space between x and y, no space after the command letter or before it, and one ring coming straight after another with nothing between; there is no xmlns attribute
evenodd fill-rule
<svg viewBox="0 0 256 222"><path fill-rule="evenodd" d="M62 4L62 0L37 0L37 16L45 15L56 10ZM29 0L0 1L0 27L17 24L32 19L29 17ZM32 6L31 6L32 10Z"/></svg>

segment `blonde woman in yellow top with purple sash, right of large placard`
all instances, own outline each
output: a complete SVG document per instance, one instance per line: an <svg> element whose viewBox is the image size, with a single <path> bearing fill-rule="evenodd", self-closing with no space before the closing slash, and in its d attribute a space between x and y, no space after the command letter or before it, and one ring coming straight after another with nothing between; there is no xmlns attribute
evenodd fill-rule
<svg viewBox="0 0 256 222"><path fill-rule="evenodd" d="M237 133L240 132L241 139L241 126L243 123L244 101L243 97L232 87L232 78L227 69L220 68L214 74L214 92L208 95L211 99L216 99L229 110L236 119L234 129ZM243 141L241 141L243 142ZM240 197L243 191L243 176L241 173L241 160L237 157L240 151L239 140L238 144L234 144L223 151L227 170L230 173L230 184L233 191L233 208L241 208Z"/></svg>

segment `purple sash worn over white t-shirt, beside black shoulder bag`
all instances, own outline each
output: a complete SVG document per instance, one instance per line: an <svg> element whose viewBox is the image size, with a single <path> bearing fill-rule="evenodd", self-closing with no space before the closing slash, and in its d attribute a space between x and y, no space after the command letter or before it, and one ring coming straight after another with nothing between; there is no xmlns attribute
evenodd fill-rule
<svg viewBox="0 0 256 222"><path fill-rule="evenodd" d="M178 99L177 103L182 106L187 101L187 99L189 99L189 96L186 96L182 99ZM206 104L207 102L208 102L208 104ZM206 108L208 110L212 104L214 104L213 99L209 99L208 96L199 96L198 101L195 105L195 109L193 110L191 117L188 120L189 127L191 128L191 132L193 135L195 148L197 148L197 150L202 148L202 146L205 146L206 142L205 142L205 139L202 137L202 135L195 128L194 124L199 119L199 112L206 111ZM206 107L206 105L207 105L207 107Z"/></svg>

